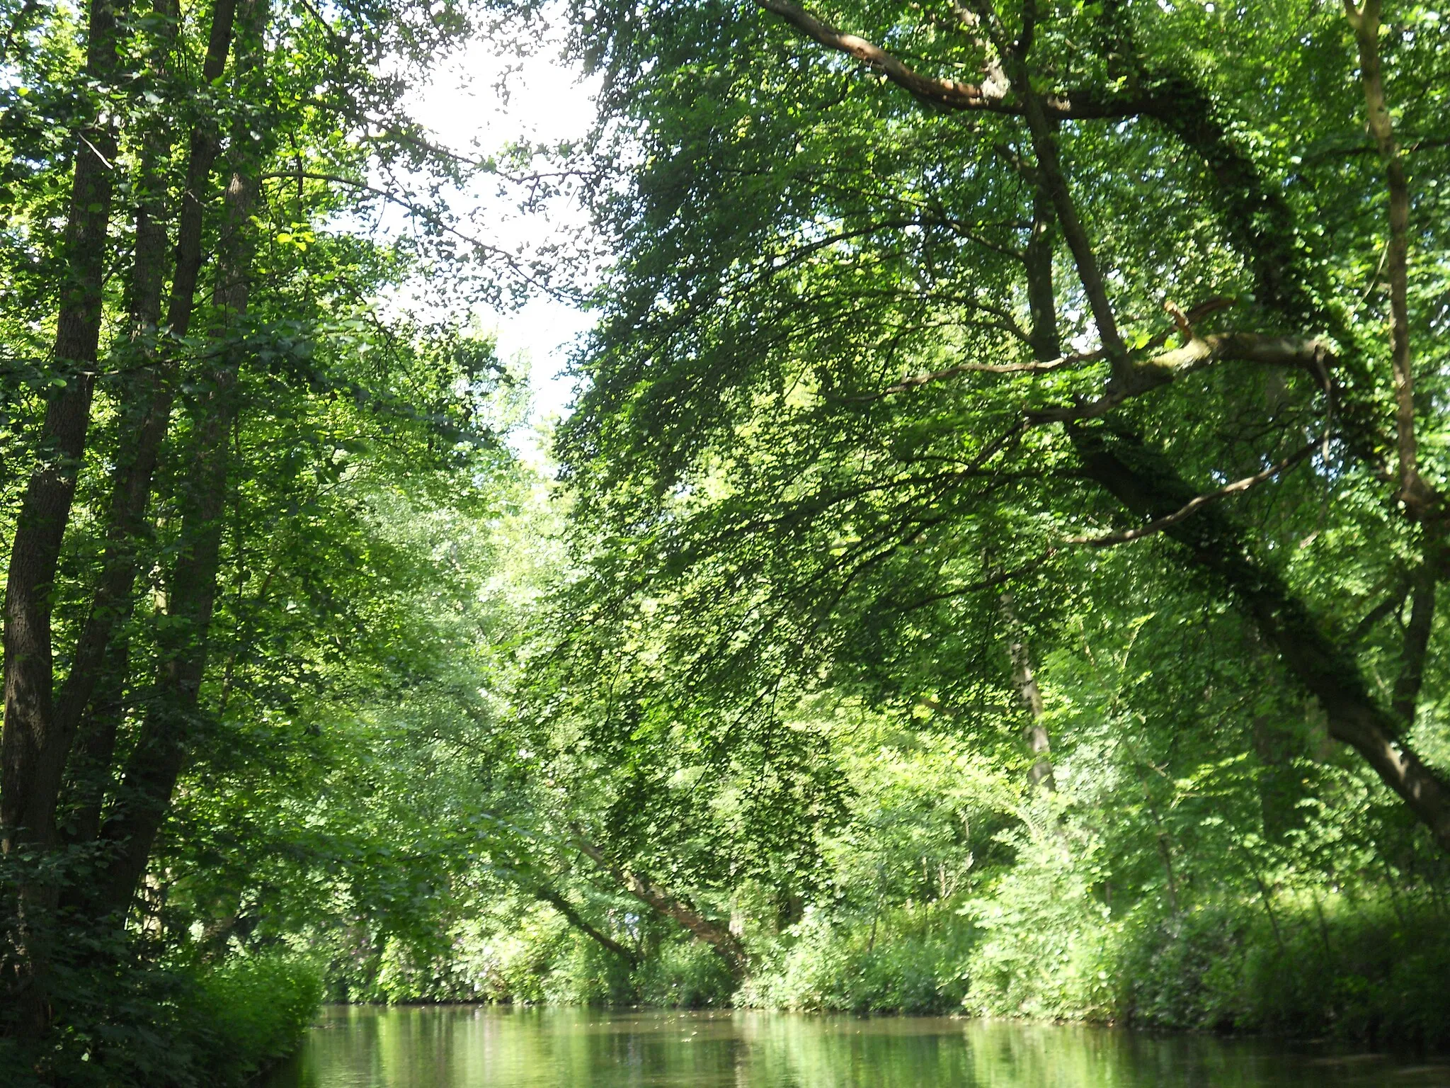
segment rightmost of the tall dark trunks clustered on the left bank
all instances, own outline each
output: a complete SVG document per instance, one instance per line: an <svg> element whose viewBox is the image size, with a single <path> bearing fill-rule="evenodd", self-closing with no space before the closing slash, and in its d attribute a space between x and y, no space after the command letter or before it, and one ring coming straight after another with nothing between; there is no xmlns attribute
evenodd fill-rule
<svg viewBox="0 0 1450 1088"><path fill-rule="evenodd" d="M242 0L238 6L238 84L245 86L260 68L268 12L268 0ZM225 191L226 210L212 299L216 310L213 361L197 393L196 440L183 485L181 540L167 579L160 673L141 735L126 762L117 812L102 831L117 852L102 889L102 905L122 915L135 898L171 804L171 792L191 751L206 675L231 469L231 434L239 409L241 332L251 286L251 213L258 191L258 158L251 119L242 119L232 136L231 181Z"/></svg>

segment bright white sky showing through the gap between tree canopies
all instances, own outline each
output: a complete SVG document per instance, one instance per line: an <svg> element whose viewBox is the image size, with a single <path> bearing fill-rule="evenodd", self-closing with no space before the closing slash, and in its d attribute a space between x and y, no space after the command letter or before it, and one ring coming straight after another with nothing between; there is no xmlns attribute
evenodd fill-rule
<svg viewBox="0 0 1450 1088"><path fill-rule="evenodd" d="M497 154L516 142L581 139L594 122L597 81L584 80L581 70L560 59L560 52L558 42L545 41L521 58L500 52L493 42L473 42L438 65L410 112L441 144L471 158ZM451 203L474 218L471 229L483 239L510 252L563 241L570 229L587 223L583 209L571 202L521 212L496 194L487 177ZM539 463L544 458L536 428L566 413L574 395L563 374L567 353L593 318L542 294L515 310L478 306L473 316L497 332L500 358L528 370L534 392L531 426L515 435L513 445L526 460Z"/></svg>

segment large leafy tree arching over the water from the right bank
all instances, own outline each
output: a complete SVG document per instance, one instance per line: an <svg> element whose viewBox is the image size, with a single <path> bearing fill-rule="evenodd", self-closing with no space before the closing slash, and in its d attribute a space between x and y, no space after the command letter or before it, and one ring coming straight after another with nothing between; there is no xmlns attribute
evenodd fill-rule
<svg viewBox="0 0 1450 1088"><path fill-rule="evenodd" d="M576 17L602 170L639 164L597 189L622 257L561 437L608 534L583 615L670 588L695 689L963 706L1003 588L1050 637L1050 586L1161 551L1450 847L1414 744L1441 728L1433 12Z"/></svg>

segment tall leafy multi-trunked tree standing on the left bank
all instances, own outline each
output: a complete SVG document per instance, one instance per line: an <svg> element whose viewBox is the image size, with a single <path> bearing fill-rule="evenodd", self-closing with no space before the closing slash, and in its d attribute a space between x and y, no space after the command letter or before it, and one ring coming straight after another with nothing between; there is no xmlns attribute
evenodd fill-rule
<svg viewBox="0 0 1450 1088"><path fill-rule="evenodd" d="M239 631L233 605L270 608L281 553L304 548L278 529L306 503L274 487L296 499L299 473L335 483L362 461L481 483L499 458L492 345L457 321L389 316L377 296L438 260L458 270L439 284L483 297L528 279L447 210L448 186L494 164L435 147L403 107L407 80L383 74L384 58L457 41L465 7L158 0L87 19L16 15L0 135L6 273L25 284L0 303L0 911L20 1010L4 1027L32 1039L51 1020L52 956L123 949L177 782L245 704L238 675L268 635ZM339 225L384 206L418 229ZM294 442L271 474L254 441L268 428ZM254 563L274 577L248 603ZM323 625L342 615L315 609Z"/></svg>

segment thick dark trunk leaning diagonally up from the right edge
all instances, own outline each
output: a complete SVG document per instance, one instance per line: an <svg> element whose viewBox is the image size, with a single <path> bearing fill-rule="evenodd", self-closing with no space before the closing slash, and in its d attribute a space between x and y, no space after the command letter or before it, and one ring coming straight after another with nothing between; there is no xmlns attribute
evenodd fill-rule
<svg viewBox="0 0 1450 1088"><path fill-rule="evenodd" d="M1073 426L1069 434L1088 476L1140 518L1167 516L1193 496L1137 435L1109 426ZM1318 699L1330 735L1353 747L1450 852L1450 786L1398 738L1399 722L1370 698L1354 657L1328 638L1277 573L1253 559L1219 511L1204 508L1164 532L1228 590L1288 673Z"/></svg>

